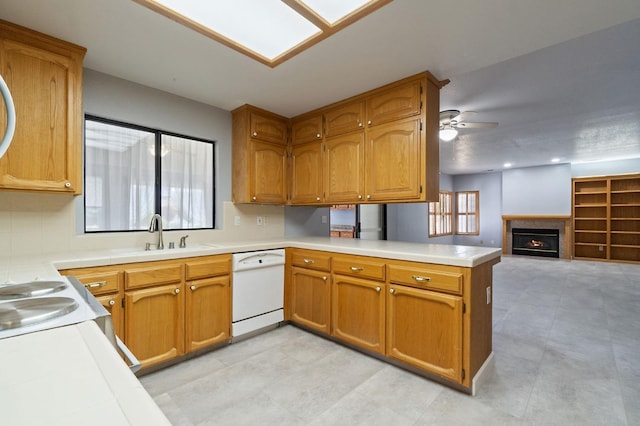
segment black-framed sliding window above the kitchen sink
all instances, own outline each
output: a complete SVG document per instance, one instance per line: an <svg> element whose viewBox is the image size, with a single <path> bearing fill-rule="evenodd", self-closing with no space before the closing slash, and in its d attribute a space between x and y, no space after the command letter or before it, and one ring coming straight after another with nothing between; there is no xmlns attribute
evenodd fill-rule
<svg viewBox="0 0 640 426"><path fill-rule="evenodd" d="M85 232L214 226L214 142L85 116Z"/></svg>

